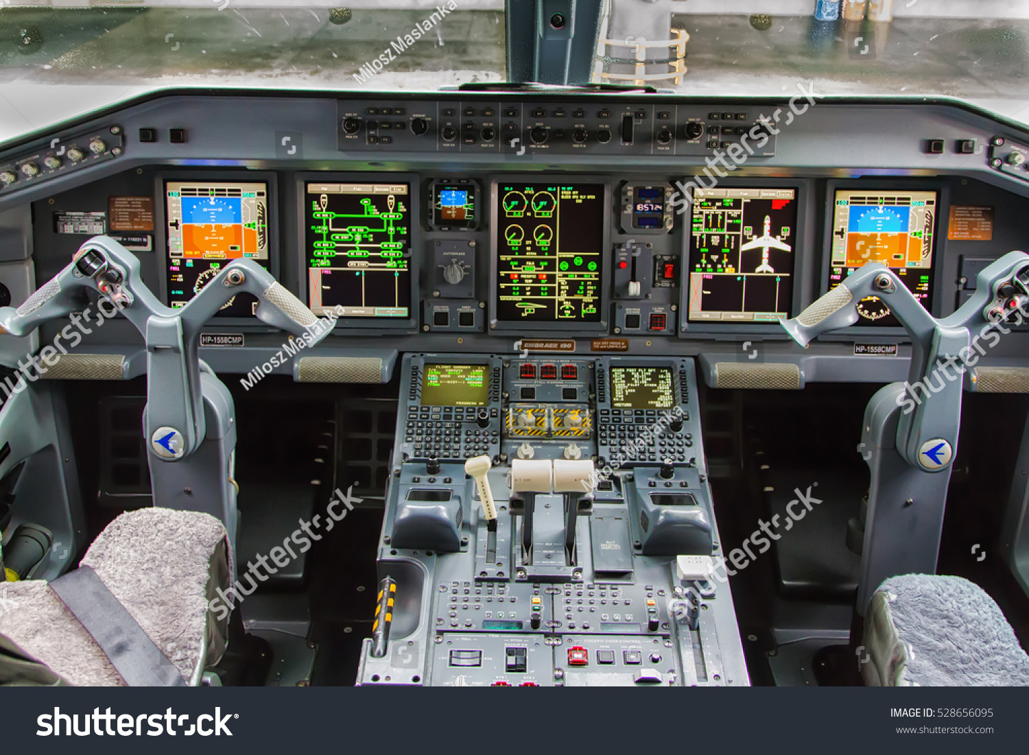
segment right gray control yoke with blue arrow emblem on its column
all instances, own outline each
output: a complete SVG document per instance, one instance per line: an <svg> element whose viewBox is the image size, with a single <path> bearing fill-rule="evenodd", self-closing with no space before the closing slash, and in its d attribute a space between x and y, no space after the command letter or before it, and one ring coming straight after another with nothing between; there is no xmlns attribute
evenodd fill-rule
<svg viewBox="0 0 1029 755"><path fill-rule="evenodd" d="M938 472L950 468L957 451L962 374L973 336L978 338L1029 301L1027 282L1029 255L1008 252L980 272L975 292L957 312L936 320L895 273L882 262L870 262L796 318L781 322L793 340L807 349L822 333L856 323L862 298L882 299L911 335L913 347L908 386L898 396L897 405L907 410L898 419L896 447L909 464ZM943 463L933 452L939 441L947 441L951 450Z"/></svg>

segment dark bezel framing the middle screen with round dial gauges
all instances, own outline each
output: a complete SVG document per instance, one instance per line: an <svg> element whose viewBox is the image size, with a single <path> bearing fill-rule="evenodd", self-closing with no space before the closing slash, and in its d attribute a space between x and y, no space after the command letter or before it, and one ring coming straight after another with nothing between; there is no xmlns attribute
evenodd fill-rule
<svg viewBox="0 0 1029 755"><path fill-rule="evenodd" d="M499 296L499 285L497 275L499 274L499 242L497 239L498 210L497 200L499 199L499 185L501 183L568 183L568 184L598 184L604 187L603 223L601 228L601 291L600 291L600 320L597 322L566 322L566 321L532 321L512 322L497 319L497 304ZM534 175L493 175L490 176L490 330L491 331L517 331L517 332L540 332L560 331L572 335L601 335L606 334L610 323L611 308L611 178L594 175L568 175L555 173L538 173Z"/></svg>

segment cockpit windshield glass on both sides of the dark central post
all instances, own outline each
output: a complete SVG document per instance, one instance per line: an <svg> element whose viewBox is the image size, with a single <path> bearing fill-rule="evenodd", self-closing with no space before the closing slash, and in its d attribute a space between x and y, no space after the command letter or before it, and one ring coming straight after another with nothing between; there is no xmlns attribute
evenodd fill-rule
<svg viewBox="0 0 1029 755"><path fill-rule="evenodd" d="M507 76L502 0L38 2L0 0L0 139L168 86ZM592 78L765 97L816 79L825 95L951 96L1027 122L1027 70L1025 0L608 0Z"/></svg>

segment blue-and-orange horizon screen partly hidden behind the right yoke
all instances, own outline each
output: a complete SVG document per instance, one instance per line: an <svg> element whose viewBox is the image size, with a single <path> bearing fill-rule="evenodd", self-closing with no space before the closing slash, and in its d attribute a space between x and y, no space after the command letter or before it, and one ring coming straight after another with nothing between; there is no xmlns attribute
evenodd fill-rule
<svg viewBox="0 0 1029 755"><path fill-rule="evenodd" d="M829 288L867 262L882 262L928 310L932 305L936 203L935 191L838 189ZM861 299L857 313L858 325L900 325L878 296Z"/></svg>

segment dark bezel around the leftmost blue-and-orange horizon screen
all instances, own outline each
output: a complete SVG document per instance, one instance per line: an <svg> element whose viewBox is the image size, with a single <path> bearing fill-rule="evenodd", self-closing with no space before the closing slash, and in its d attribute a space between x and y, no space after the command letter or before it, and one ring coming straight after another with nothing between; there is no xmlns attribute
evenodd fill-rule
<svg viewBox="0 0 1029 755"><path fill-rule="evenodd" d="M154 181L154 243L157 245L157 286L161 302L171 307L168 294L168 208L167 185L170 181L197 181L198 183L254 183L263 181L268 184L268 271L279 280L279 193L278 176L268 171L158 171L153 176ZM268 330L269 326L253 315L243 317L214 316L207 321L210 327L243 327L257 326Z"/></svg>

